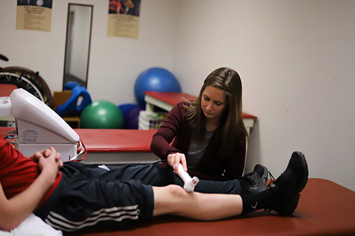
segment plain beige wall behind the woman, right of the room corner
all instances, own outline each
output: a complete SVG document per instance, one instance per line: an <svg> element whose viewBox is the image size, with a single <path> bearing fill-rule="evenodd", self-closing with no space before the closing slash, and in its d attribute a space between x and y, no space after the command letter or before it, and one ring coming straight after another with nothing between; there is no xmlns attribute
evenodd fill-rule
<svg viewBox="0 0 355 236"><path fill-rule="evenodd" d="M232 67L244 111L258 116L246 171L278 176L306 154L310 176L355 190L355 1L181 1L174 72L197 95Z"/></svg>

